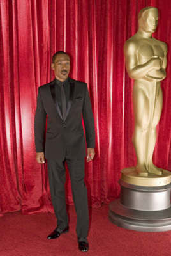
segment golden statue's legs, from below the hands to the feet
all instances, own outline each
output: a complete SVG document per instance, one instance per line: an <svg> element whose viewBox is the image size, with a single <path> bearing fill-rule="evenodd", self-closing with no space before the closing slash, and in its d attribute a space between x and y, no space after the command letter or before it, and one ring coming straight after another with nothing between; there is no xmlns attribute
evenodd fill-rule
<svg viewBox="0 0 171 256"><path fill-rule="evenodd" d="M162 175L162 170L152 163L156 144L156 125L161 116L163 95L160 83L156 81L135 81L133 86L133 111L135 129L133 146L137 155L138 175L147 176L149 172Z"/></svg>

